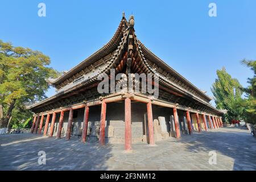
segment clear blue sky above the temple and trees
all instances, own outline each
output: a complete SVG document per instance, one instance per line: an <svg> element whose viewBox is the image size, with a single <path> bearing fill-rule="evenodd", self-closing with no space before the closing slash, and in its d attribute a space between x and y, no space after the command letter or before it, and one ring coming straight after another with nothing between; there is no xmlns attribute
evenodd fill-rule
<svg viewBox="0 0 256 182"><path fill-rule="evenodd" d="M46 4L46 17L38 4ZM209 17L209 3L217 17ZM225 67L243 86L253 73L240 64L256 59L256 1L3 1L0 39L51 57L66 71L112 38L125 11L138 38L209 96L216 70ZM54 89L47 96L55 93Z"/></svg>

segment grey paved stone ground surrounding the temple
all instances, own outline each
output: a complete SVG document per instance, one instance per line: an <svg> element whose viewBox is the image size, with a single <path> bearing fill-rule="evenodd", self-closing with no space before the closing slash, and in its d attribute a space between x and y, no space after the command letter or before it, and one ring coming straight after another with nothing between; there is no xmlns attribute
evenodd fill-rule
<svg viewBox="0 0 256 182"><path fill-rule="evenodd" d="M256 170L256 138L247 130L221 128L157 142L155 147L133 144L82 144L79 139L55 139L33 134L0 136L0 170ZM46 152L46 165L38 152ZM210 165L209 151L217 152Z"/></svg>

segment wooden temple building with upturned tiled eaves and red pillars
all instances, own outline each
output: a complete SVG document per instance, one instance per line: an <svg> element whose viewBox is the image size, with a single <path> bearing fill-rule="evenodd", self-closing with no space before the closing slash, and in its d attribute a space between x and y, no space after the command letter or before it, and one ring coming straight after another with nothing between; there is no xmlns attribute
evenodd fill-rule
<svg viewBox="0 0 256 182"><path fill-rule="evenodd" d="M103 93L97 77L117 73L158 75L159 96L148 93ZM82 142L131 143L180 138L193 132L223 127L222 112L211 98L159 59L137 38L134 17L123 14L113 38L70 71L52 81L56 94L29 109L31 133ZM154 85L154 83L152 83Z"/></svg>

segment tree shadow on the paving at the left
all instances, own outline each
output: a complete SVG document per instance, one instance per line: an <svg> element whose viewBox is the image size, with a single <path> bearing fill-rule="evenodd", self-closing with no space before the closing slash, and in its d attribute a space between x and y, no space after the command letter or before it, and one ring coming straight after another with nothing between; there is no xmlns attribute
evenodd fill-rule
<svg viewBox="0 0 256 182"><path fill-rule="evenodd" d="M106 160L112 156L109 145L101 150L97 143L83 144L77 138L17 135L0 138L0 170L106 170ZM39 165L39 151L46 152L46 165Z"/></svg>

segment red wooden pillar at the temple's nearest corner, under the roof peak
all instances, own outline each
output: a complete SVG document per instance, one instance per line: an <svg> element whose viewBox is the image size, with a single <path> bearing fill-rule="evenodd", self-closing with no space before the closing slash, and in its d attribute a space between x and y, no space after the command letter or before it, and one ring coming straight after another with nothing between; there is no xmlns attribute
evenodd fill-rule
<svg viewBox="0 0 256 182"><path fill-rule="evenodd" d="M131 151L131 99L125 99L125 151Z"/></svg>

